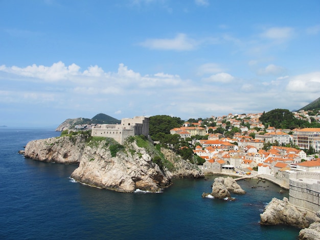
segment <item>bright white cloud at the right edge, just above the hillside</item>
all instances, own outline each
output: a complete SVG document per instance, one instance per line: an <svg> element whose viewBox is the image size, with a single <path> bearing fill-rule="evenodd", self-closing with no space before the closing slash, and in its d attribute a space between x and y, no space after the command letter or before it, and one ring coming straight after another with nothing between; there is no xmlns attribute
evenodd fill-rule
<svg viewBox="0 0 320 240"><path fill-rule="evenodd" d="M286 89L292 92L320 92L320 72L298 75L290 79Z"/></svg>

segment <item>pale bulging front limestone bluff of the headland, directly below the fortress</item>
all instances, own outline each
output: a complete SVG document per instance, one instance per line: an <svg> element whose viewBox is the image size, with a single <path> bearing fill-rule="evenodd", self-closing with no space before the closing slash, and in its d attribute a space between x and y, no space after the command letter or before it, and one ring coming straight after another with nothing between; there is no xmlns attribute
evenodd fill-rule
<svg viewBox="0 0 320 240"><path fill-rule="evenodd" d="M98 145L88 144L71 177L91 186L123 192L136 189L155 192L171 184L170 177L152 162L152 152L132 142L123 149L119 147L120 151L112 156L111 144L121 146L113 139L99 141Z"/></svg>

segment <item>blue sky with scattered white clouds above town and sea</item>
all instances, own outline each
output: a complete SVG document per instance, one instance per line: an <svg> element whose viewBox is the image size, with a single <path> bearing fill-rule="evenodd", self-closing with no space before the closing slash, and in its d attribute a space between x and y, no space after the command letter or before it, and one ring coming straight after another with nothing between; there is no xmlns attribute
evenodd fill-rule
<svg viewBox="0 0 320 240"><path fill-rule="evenodd" d="M0 126L292 111L319 97L318 0L0 0Z"/></svg>

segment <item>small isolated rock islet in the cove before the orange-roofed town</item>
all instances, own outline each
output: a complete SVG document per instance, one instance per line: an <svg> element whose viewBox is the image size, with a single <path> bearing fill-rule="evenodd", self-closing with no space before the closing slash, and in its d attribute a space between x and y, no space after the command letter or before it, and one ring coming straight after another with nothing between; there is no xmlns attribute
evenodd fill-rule
<svg viewBox="0 0 320 240"><path fill-rule="evenodd" d="M232 177L218 177L215 178L212 184L212 192L203 193L202 197L208 197L209 195L216 199L230 199L231 193L245 194L245 190L232 178Z"/></svg>

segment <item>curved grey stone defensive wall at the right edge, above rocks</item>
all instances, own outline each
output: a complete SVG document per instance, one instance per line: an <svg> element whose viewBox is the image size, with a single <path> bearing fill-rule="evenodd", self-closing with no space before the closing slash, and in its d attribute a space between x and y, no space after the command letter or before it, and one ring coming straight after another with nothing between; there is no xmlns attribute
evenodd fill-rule
<svg viewBox="0 0 320 240"><path fill-rule="evenodd" d="M289 178L289 202L294 206L320 211L320 173L291 172Z"/></svg>

